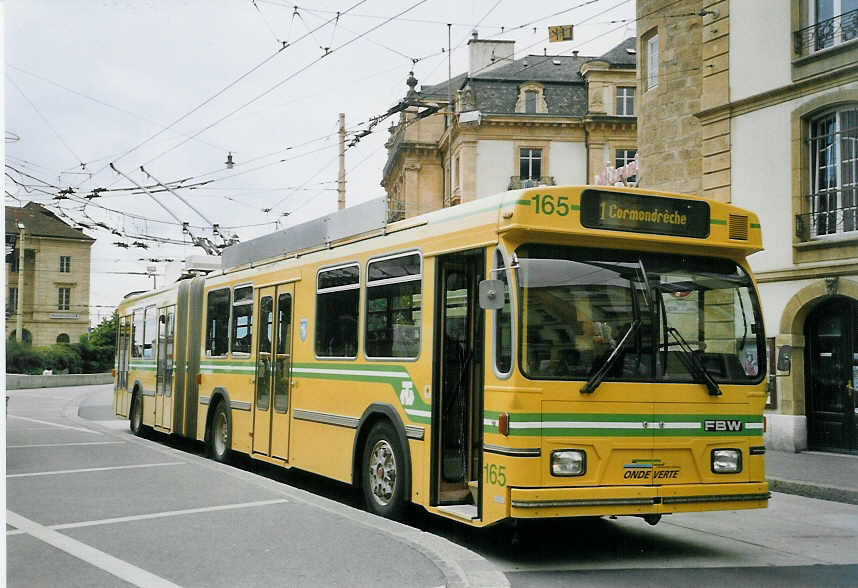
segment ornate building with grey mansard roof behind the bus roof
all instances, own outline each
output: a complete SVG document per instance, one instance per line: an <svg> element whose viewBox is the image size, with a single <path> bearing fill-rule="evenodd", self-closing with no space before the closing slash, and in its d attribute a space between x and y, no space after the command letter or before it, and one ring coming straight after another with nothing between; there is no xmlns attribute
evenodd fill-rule
<svg viewBox="0 0 858 588"><path fill-rule="evenodd" d="M634 47L630 38L600 57L516 59L513 41L474 37L467 72L419 92L409 78L381 181L391 218L526 186L586 184L633 160Z"/></svg>

